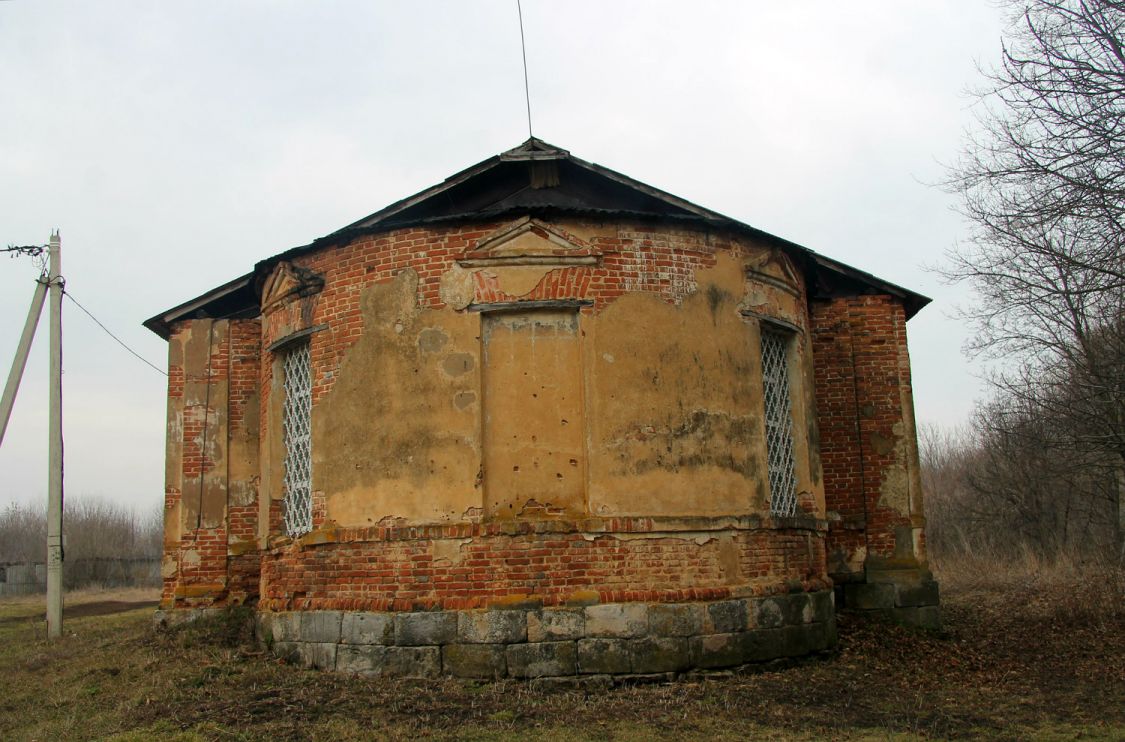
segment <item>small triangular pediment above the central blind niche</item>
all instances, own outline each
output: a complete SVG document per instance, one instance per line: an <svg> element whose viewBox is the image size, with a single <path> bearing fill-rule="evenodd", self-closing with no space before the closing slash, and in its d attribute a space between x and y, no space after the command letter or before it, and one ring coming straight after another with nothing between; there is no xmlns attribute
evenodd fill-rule
<svg viewBox="0 0 1125 742"><path fill-rule="evenodd" d="M523 217L488 235L465 253L464 268L504 265L594 265L601 253L566 230Z"/></svg>

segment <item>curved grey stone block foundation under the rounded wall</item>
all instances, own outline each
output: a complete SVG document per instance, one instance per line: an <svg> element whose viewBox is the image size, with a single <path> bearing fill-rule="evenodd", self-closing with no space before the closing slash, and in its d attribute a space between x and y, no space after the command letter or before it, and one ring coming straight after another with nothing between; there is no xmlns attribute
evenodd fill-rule
<svg viewBox="0 0 1125 742"><path fill-rule="evenodd" d="M712 603L262 612L258 628L273 654L296 664L412 678L666 676L836 644L831 590Z"/></svg>

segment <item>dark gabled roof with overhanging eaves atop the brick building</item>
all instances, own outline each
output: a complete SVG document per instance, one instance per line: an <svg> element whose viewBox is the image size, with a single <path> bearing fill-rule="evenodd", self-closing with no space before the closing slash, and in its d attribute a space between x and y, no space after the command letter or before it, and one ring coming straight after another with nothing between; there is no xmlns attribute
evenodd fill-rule
<svg viewBox="0 0 1125 742"><path fill-rule="evenodd" d="M360 235L516 215L612 216L730 230L785 251L812 279L814 297L890 293L902 299L908 318L929 304L920 293L530 138L330 235L268 257L251 273L156 315L144 325L166 338L170 324L178 319L254 316L260 283L278 262L345 244Z"/></svg>

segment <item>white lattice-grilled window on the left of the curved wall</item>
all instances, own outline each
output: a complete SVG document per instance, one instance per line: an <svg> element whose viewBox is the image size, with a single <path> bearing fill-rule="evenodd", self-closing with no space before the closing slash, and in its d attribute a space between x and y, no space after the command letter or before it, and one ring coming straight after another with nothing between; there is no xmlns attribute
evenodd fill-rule
<svg viewBox="0 0 1125 742"><path fill-rule="evenodd" d="M299 536L313 530L313 453L310 413L313 375L308 363L308 342L284 352L285 404L281 431L285 438L285 532Z"/></svg>

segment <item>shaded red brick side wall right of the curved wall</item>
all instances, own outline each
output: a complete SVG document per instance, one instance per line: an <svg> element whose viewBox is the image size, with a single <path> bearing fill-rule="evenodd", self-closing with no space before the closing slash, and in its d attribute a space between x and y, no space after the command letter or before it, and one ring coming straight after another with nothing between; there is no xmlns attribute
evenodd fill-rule
<svg viewBox="0 0 1125 742"><path fill-rule="evenodd" d="M829 569L840 578L864 548L883 559L911 549L910 513L880 501L885 473L903 465L888 442L914 429L906 315L893 297L846 297L813 302L811 324Z"/></svg>

